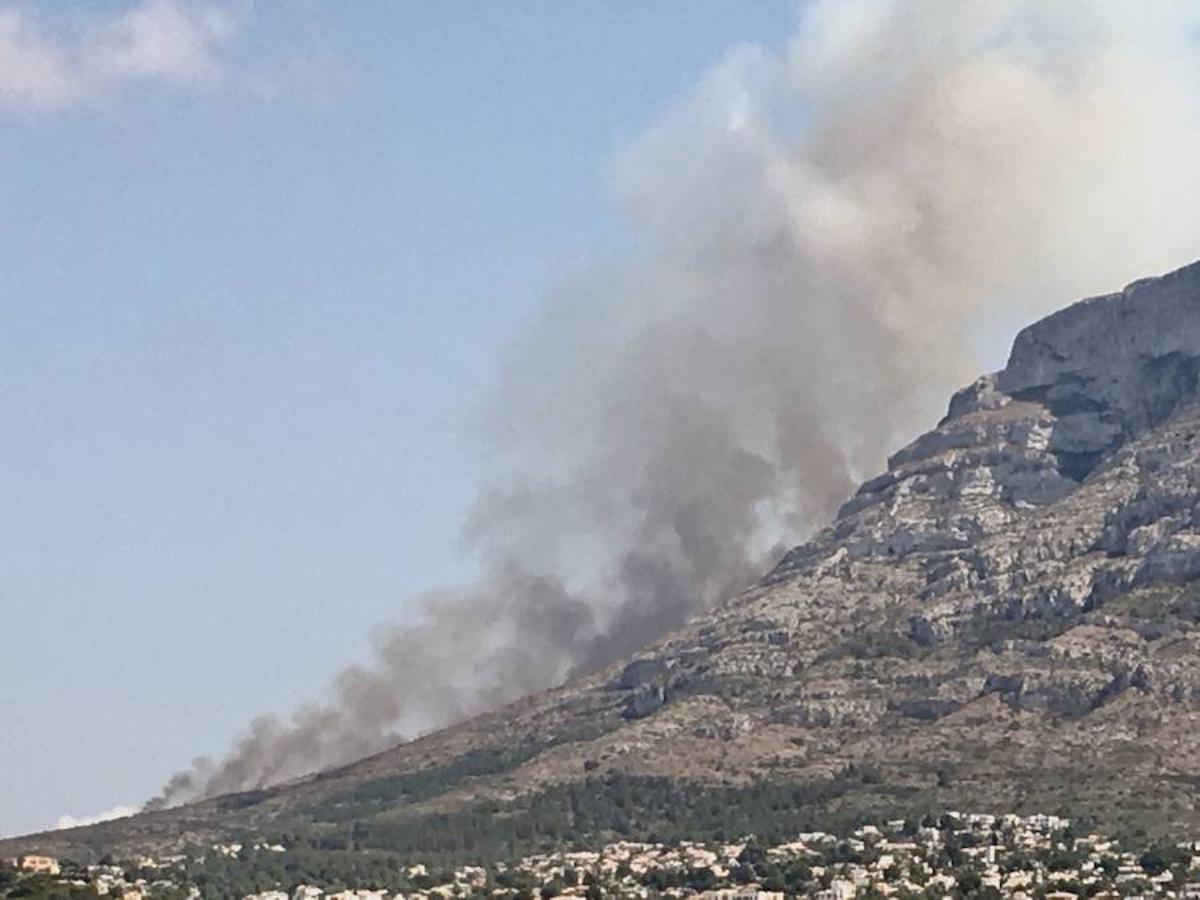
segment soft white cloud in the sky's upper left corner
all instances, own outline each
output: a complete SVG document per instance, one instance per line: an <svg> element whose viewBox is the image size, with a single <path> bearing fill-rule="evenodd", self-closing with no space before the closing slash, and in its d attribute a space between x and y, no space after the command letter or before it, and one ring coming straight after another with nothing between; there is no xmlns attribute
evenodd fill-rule
<svg viewBox="0 0 1200 900"><path fill-rule="evenodd" d="M211 85L236 30L229 8L139 0L104 17L36 16L0 0L0 110L94 104L134 83Z"/></svg>

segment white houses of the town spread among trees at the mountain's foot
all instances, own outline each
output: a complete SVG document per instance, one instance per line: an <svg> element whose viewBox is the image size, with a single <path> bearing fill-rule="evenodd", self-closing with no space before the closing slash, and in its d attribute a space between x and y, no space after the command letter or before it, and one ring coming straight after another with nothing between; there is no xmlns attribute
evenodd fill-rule
<svg viewBox="0 0 1200 900"><path fill-rule="evenodd" d="M190 869L205 856L252 865L257 853L287 853L281 844L212 845L196 858L140 857L85 869L46 856L12 860L17 877L49 878L120 900L205 896ZM277 884L244 900L409 900L412 898L709 898L816 900L980 896L1014 900L1200 900L1200 845L1123 848L1099 834L1076 833L1056 816L948 812L919 822L863 826L845 835L797 834L764 846L755 840L704 844L619 841L596 850L563 850L490 866L397 874L408 886ZM262 881L259 881L262 883Z"/></svg>

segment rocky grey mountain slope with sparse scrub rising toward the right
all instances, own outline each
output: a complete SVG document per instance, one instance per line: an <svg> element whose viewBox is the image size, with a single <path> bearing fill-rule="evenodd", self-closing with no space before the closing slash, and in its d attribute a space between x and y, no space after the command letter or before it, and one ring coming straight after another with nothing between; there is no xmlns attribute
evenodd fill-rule
<svg viewBox="0 0 1200 900"><path fill-rule="evenodd" d="M757 586L293 784L0 842L518 852L937 809L1200 827L1200 263L1018 335Z"/></svg>

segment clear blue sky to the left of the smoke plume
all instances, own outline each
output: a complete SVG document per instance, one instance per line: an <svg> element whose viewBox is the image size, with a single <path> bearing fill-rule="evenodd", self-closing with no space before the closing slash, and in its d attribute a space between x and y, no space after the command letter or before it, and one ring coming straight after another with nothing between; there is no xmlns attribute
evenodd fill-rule
<svg viewBox="0 0 1200 900"><path fill-rule="evenodd" d="M221 18L89 49L145 8ZM469 574L470 424L626 240L613 155L796 16L0 2L0 834L149 797Z"/></svg>

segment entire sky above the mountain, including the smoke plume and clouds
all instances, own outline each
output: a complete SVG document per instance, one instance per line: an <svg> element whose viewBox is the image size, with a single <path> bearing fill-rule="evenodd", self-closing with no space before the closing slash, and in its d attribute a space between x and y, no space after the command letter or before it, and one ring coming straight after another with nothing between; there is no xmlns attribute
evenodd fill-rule
<svg viewBox="0 0 1200 900"><path fill-rule="evenodd" d="M0 834L619 656L1195 258L1194 5L800 11L0 0Z"/></svg>

